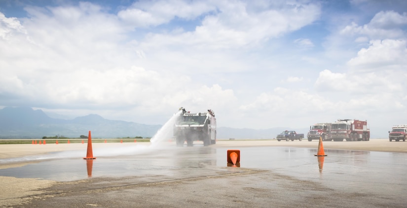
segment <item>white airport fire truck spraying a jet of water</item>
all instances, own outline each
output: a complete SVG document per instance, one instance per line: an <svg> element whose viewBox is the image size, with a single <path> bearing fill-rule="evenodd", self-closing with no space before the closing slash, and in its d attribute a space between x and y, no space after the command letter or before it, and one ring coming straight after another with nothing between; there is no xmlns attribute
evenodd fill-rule
<svg viewBox="0 0 407 208"><path fill-rule="evenodd" d="M203 141L204 146L216 144L215 113L208 110L204 113L190 113L185 108L179 109L180 115L175 120L174 136L178 147L192 147L193 141Z"/></svg>

